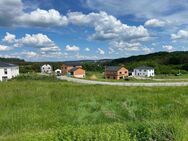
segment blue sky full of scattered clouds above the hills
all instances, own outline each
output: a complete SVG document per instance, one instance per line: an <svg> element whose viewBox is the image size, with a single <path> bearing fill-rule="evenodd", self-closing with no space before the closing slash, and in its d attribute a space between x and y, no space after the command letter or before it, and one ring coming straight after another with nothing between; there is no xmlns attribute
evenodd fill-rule
<svg viewBox="0 0 188 141"><path fill-rule="evenodd" d="M188 50L188 0L0 0L0 57L98 60Z"/></svg>

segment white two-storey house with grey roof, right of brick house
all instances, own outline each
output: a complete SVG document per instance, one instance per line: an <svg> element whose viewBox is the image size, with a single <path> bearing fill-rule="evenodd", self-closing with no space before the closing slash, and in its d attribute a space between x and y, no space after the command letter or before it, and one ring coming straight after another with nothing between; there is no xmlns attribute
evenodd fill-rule
<svg viewBox="0 0 188 141"><path fill-rule="evenodd" d="M155 70L152 67L141 66L135 68L132 72L132 75L138 77L153 77L155 76Z"/></svg>

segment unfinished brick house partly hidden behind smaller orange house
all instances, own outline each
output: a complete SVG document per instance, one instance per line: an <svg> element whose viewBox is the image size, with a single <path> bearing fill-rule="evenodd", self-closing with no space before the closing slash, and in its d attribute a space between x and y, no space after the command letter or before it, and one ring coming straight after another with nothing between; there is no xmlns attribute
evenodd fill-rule
<svg viewBox="0 0 188 141"><path fill-rule="evenodd" d="M82 68L82 65L78 62L64 62L61 66L62 75L67 75L72 68Z"/></svg>

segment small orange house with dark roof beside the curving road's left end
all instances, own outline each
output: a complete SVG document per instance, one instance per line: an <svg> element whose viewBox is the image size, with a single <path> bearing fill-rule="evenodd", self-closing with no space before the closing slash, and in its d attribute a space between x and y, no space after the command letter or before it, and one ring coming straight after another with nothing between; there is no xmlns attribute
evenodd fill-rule
<svg viewBox="0 0 188 141"><path fill-rule="evenodd" d="M70 75L75 78L84 78L85 70L82 68L74 67L69 71Z"/></svg>

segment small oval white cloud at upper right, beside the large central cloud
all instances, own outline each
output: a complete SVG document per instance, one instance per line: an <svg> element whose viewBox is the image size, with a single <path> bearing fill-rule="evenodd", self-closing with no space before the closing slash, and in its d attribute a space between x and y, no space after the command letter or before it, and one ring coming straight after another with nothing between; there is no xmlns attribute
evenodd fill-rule
<svg viewBox="0 0 188 141"><path fill-rule="evenodd" d="M163 27L166 25L166 22L158 19L150 19L144 25L148 27Z"/></svg>

